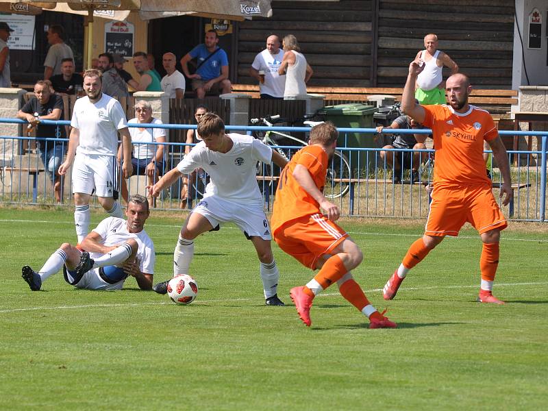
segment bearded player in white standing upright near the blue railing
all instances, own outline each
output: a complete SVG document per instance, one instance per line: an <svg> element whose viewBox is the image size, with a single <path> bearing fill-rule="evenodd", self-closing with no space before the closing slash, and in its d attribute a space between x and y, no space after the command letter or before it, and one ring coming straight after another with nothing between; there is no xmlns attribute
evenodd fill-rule
<svg viewBox="0 0 548 411"><path fill-rule="evenodd" d="M93 192L110 216L123 217L118 199L116 151L122 136L125 178L132 175L132 138L120 103L101 92L101 72L84 73L86 97L76 100L71 119L71 136L66 160L59 167L65 175L73 165L74 223L78 242L88 235L90 198Z"/></svg>

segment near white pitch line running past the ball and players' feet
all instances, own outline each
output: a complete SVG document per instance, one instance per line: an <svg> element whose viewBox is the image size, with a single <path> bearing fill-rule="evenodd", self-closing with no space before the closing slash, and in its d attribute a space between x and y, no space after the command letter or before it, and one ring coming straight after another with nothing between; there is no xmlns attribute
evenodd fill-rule
<svg viewBox="0 0 548 411"><path fill-rule="evenodd" d="M499 287L512 287L512 286L538 286L545 285L548 282L522 282L522 283L501 283L495 284L497 288ZM477 288L476 285L469 286L429 286L429 287L409 287L404 288L406 291L415 291L415 290L434 290L434 289L449 289L449 288ZM382 291L382 288L373 288L371 290L364 290L364 292L378 292ZM318 297L334 297L340 295L338 292L326 292L325 294L320 294ZM256 298L236 298L236 299L212 299L212 300L199 300L196 303L228 303L232 301L256 301ZM169 301L157 301L150 303L119 303L119 304L86 304L82 306L59 306L59 307L30 307L30 308L11 308L9 310L0 310L0 313L9 313L9 312L21 312L21 311L40 311L40 310L75 310L77 308L106 308L106 307L139 307L139 306L164 306L166 304L171 304Z"/></svg>

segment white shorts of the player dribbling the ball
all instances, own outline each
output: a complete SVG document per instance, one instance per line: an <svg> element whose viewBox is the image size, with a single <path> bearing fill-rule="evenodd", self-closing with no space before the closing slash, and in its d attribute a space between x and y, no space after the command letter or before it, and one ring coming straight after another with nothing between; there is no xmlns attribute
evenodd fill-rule
<svg viewBox="0 0 548 411"><path fill-rule="evenodd" d="M262 205L247 206L210 195L204 197L192 212L206 217L214 228L221 223L234 223L247 238L272 240L269 220L266 219Z"/></svg>

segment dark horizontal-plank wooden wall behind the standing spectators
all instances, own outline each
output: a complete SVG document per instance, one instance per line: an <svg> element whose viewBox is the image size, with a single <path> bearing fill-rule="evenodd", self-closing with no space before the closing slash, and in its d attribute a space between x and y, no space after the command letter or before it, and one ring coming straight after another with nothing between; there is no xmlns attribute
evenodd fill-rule
<svg viewBox="0 0 548 411"><path fill-rule="evenodd" d="M273 1L272 6L271 18L236 24L236 83L255 84L249 66L267 36L294 34L314 69L310 86L402 87L409 62L424 49L424 36L435 33L439 49L476 87L512 87L514 0Z"/></svg>

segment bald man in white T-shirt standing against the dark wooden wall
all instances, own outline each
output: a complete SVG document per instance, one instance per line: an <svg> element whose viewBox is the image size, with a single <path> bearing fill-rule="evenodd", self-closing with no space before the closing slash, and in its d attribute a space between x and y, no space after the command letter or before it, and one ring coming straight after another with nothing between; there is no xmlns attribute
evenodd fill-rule
<svg viewBox="0 0 548 411"><path fill-rule="evenodd" d="M279 46L279 37L275 34L266 38L266 49L256 55L249 69L249 75L259 82L261 99L284 98L286 76L278 74L284 50Z"/></svg>

